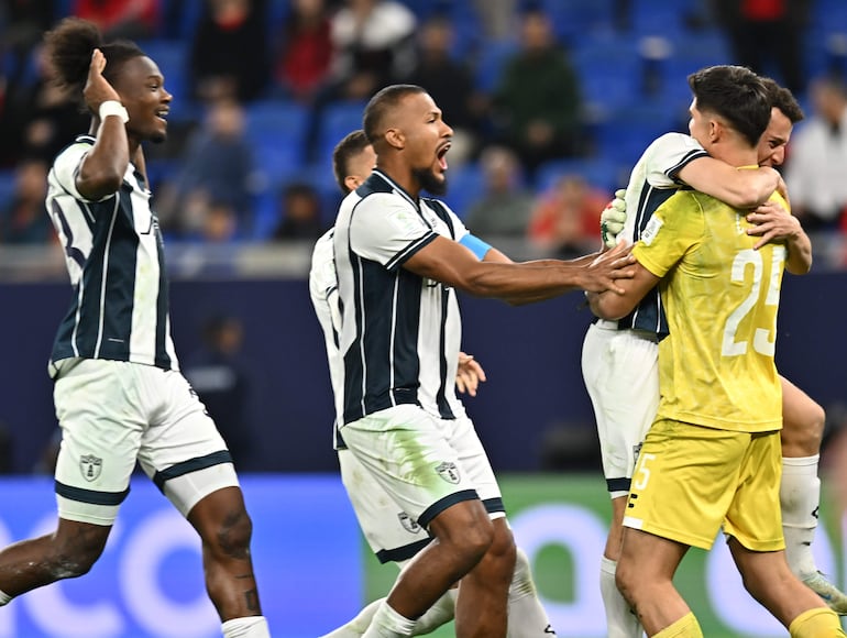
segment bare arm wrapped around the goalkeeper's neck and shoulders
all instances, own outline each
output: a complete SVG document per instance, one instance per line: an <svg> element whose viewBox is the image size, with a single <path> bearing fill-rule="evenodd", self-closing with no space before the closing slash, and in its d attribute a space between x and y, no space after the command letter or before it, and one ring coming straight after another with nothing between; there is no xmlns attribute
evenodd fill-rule
<svg viewBox="0 0 847 638"><path fill-rule="evenodd" d="M679 178L733 208L756 208L773 195L780 183L780 174L769 166L736 168L714 157L690 162L682 167Z"/></svg>

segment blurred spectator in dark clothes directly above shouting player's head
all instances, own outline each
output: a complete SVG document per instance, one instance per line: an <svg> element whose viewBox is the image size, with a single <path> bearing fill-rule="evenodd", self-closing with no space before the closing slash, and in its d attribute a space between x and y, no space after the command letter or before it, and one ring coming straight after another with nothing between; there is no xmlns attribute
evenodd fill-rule
<svg viewBox="0 0 847 638"><path fill-rule="evenodd" d="M453 25L447 15L430 16L418 32L415 68L399 81L426 88L444 112L444 119L453 129L450 163L458 166L474 153L485 98L474 87L471 68L452 57L454 38Z"/></svg>

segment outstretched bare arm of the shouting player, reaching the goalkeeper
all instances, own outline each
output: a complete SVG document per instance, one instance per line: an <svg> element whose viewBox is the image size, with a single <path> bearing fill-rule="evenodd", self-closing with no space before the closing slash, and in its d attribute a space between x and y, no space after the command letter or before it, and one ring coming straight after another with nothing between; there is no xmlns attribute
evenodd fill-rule
<svg viewBox="0 0 847 638"><path fill-rule="evenodd" d="M617 280L632 276L634 261L629 248L620 246L591 261L480 262L464 246L438 237L404 267L477 297L520 302L540 301L576 289L620 293Z"/></svg>

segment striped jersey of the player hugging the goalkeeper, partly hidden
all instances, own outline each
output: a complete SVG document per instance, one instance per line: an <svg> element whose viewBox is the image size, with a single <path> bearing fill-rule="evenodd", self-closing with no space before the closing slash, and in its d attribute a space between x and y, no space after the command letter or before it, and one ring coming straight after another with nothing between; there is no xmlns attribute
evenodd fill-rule
<svg viewBox="0 0 847 638"><path fill-rule="evenodd" d="M684 184L678 175L682 168L707 153L694 138L682 133L666 133L656 139L641 155L629 176L626 189L626 224L620 237L635 243L641 239L653 212ZM668 336L659 289L653 288L638 306L618 321L619 329L654 332Z"/></svg>

